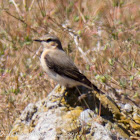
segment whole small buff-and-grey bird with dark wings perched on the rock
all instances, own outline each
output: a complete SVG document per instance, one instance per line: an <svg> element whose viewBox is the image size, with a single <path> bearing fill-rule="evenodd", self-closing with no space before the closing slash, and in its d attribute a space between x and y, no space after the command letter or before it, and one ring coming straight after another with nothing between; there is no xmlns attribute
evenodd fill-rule
<svg viewBox="0 0 140 140"><path fill-rule="evenodd" d="M60 40L52 35L45 35L34 41L41 42L43 52L41 65L48 76L67 88L83 85L89 89L99 91L75 66L62 48Z"/></svg>

